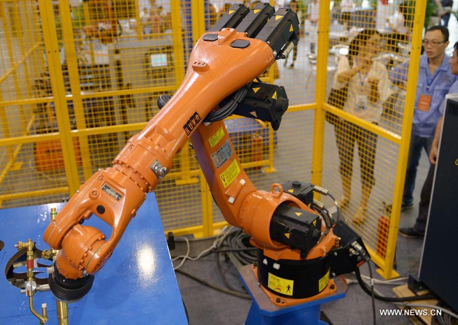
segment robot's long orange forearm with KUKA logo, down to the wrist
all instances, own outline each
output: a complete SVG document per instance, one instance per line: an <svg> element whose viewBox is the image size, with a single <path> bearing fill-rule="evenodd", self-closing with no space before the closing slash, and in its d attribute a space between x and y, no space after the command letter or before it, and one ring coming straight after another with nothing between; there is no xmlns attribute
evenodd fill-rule
<svg viewBox="0 0 458 325"><path fill-rule="evenodd" d="M174 96L127 142L113 160L112 167L99 170L79 188L46 229L44 240L52 248L61 250L54 266L58 271L54 272L57 282L62 280L69 284L72 280L78 288L81 278L100 270L146 194L168 173L173 157L203 119L221 100L246 86L273 64L280 56L280 47L276 51L275 46L281 44L286 48L288 38L297 38L298 28L296 31L289 28L291 18L289 23L281 24L280 33L276 33L275 26L272 29L269 23L264 26L264 35L275 45L266 39L247 37L254 35L246 31L254 23L242 21L248 9L234 6L236 13L226 13L227 17L223 16L212 29L214 32L206 33L196 43L183 83ZM292 17L297 25L297 16ZM262 27L268 18L265 15L263 22L256 22L257 26ZM241 32L228 28L239 24L246 26ZM109 238L96 228L82 225L93 214L111 226ZM71 301L66 296L62 299Z"/></svg>

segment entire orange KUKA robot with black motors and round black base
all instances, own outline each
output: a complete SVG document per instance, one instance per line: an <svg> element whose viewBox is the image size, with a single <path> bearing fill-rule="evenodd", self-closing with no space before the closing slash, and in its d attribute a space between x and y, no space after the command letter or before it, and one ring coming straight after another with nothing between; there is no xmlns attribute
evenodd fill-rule
<svg viewBox="0 0 458 325"><path fill-rule="evenodd" d="M258 248L257 281L274 303L311 301L335 292L331 277L368 260L361 238L313 200L326 189L299 181L258 190L249 180L224 127L231 114L257 118L278 129L288 98L283 87L258 76L297 44L299 21L291 9L259 3L233 5L198 40L176 93L161 96L161 109L133 136L112 166L89 178L50 223L44 239L60 250L49 275L56 297L74 302L118 245L147 193L171 169L191 139L196 158L225 220L251 236ZM258 82L253 82L257 78ZM107 238L84 226L96 215L112 227Z"/></svg>

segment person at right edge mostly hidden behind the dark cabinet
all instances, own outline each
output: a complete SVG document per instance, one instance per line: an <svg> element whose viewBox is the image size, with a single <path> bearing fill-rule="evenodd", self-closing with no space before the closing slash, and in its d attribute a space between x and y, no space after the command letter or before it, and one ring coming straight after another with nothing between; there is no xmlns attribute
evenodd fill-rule
<svg viewBox="0 0 458 325"><path fill-rule="evenodd" d="M455 43L453 46L454 51L451 58L448 60L450 63L450 71L454 75L458 76L458 42ZM449 94L458 94L458 80L456 80L453 85L450 87ZM439 140L441 136L441 128L442 128L442 116L444 115L445 111L445 103L446 100L442 102L439 106L439 113L441 117L436 125L436 132L434 134L433 144L431 145L430 151L430 170L428 171L428 175L424 181L423 187L421 188L420 194L420 204L418 208L418 216L417 220L415 221L415 225L413 227L408 228L400 228L399 234L404 237L409 238L423 238L424 231L426 230L426 221L428 218L428 211L430 209L430 200L431 200L431 192L433 191L433 180L434 180L434 171L436 169L436 161L437 161L437 154L439 149Z"/></svg>

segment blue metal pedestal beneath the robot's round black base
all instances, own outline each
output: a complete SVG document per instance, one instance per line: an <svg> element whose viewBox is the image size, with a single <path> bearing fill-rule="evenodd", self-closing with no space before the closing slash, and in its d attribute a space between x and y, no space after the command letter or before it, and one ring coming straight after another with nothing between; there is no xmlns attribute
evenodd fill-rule
<svg viewBox="0 0 458 325"><path fill-rule="evenodd" d="M348 288L347 284L337 277L334 278L337 286L335 293L300 305L278 307L269 300L259 286L252 265L240 268L240 278L252 298L251 308L245 321L246 325L327 325L326 322L320 320L321 304L344 298Z"/></svg>

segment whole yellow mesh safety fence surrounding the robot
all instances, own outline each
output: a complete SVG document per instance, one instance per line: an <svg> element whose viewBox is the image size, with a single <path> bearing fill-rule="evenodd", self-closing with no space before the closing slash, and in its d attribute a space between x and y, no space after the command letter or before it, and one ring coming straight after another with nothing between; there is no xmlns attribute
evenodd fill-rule
<svg viewBox="0 0 458 325"><path fill-rule="evenodd" d="M347 195L344 215L351 221L362 212L361 222L349 223L385 278L396 276L400 189L425 11L423 2L410 3L398 8L405 10L402 31L395 30L397 20L378 25L382 9L394 17L393 6L345 11L338 2L332 8L329 1L287 4L301 21L298 46L261 76L287 90L290 109L280 129L236 116L225 121L259 188L298 179ZM0 0L1 207L68 199L109 166L157 113L157 97L178 88L195 41L227 8L220 0ZM407 88L379 80L377 91L367 90L378 112L371 119L336 108L341 91L328 99L336 72L344 71L342 58L350 62L352 41L364 28L379 30L360 49L368 55L377 47L367 60L376 61L379 72L411 62ZM155 194L167 231L208 236L226 224L188 146Z"/></svg>

